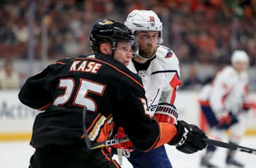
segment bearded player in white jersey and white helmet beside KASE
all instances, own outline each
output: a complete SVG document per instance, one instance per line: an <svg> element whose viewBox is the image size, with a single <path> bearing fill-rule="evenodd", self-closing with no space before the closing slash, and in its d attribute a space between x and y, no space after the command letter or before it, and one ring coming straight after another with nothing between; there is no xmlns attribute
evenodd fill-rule
<svg viewBox="0 0 256 168"><path fill-rule="evenodd" d="M179 61L171 49L161 46L162 22L153 11L134 10L124 24L134 32L139 44L139 56L133 57L127 68L142 79L148 115L155 116L161 122L175 123L178 114L173 103L177 87L181 84ZM135 150L128 159L133 167L172 167L164 146L147 153Z"/></svg>

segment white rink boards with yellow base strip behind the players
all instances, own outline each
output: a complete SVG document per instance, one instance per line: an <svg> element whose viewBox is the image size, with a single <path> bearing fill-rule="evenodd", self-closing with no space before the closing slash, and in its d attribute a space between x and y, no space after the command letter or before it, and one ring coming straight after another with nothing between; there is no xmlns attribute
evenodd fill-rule
<svg viewBox="0 0 256 168"><path fill-rule="evenodd" d="M19 90L0 91L0 141L30 139L35 116L39 111L29 108L18 99ZM254 93L252 95L256 97ZM195 91L179 91L175 100L179 119L199 122L199 104ZM256 112L247 122L246 135L256 135Z"/></svg>

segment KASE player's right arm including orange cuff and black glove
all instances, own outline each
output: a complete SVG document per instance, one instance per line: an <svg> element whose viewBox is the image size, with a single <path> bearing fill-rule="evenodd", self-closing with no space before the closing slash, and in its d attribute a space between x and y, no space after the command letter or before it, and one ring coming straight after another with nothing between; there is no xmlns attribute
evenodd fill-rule
<svg viewBox="0 0 256 168"><path fill-rule="evenodd" d="M116 119L117 124L120 127L123 127L135 148L146 152L166 143L169 143L170 145L180 144L179 146L182 146L182 148L184 146L187 148L189 143L184 142L188 137L191 137L187 135L194 134L184 132L189 129L187 126L185 126L185 122L179 121L177 125L174 125L171 123L158 122L156 119L150 119L150 117L147 115L147 108L145 108L146 99L143 99L144 92L142 92L141 89L138 90L129 87L124 88L125 89L119 91L117 96L117 99L119 99L119 102L117 102L117 108L119 109L116 114L113 114L113 117ZM127 91L129 93L127 93ZM205 144L201 140L198 140L198 138L202 137L205 137L205 135L202 136L201 134L197 136L198 144L194 144L194 148L191 149L191 151L193 150L196 152L197 150L205 147Z"/></svg>

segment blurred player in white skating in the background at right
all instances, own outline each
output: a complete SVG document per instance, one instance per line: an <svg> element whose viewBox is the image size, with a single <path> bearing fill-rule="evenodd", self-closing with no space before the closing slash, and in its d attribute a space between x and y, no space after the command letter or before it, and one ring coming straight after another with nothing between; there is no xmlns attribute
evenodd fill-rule
<svg viewBox="0 0 256 168"><path fill-rule="evenodd" d="M211 139L221 140L230 129L229 142L238 144L244 131L246 116L245 98L247 95L249 56L244 51L235 51L231 56L231 66L221 70L211 84L205 85L199 95L201 110L209 124ZM210 162L214 151L207 146L201 165L217 167ZM226 164L244 167L234 159L234 150L228 150Z"/></svg>

